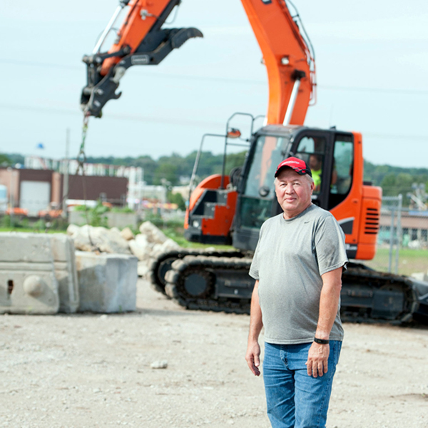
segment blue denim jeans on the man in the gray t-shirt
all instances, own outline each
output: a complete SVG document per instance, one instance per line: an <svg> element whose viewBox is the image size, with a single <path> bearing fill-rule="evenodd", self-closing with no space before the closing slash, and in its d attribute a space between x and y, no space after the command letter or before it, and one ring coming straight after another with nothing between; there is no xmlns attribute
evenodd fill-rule
<svg viewBox="0 0 428 428"><path fill-rule="evenodd" d="M330 340L328 372L321 377L307 374L305 362L311 345L265 343L263 379L272 428L325 427L342 342Z"/></svg>

